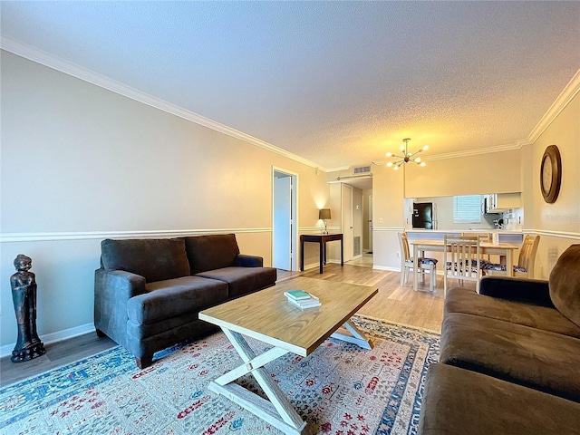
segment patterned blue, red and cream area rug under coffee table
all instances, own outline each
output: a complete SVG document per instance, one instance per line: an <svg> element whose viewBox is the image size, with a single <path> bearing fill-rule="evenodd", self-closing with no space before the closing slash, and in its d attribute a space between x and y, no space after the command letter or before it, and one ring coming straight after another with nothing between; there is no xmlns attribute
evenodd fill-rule
<svg viewBox="0 0 580 435"><path fill-rule="evenodd" d="M423 380L440 353L439 334L353 318L374 348L329 339L304 358L266 365L315 433L414 434ZM247 340L256 353L265 343ZM2 434L279 434L271 425L208 390L239 365L223 333L158 353L139 370L121 347L0 390ZM251 376L244 386L259 393Z"/></svg>

